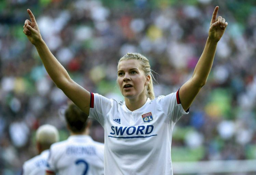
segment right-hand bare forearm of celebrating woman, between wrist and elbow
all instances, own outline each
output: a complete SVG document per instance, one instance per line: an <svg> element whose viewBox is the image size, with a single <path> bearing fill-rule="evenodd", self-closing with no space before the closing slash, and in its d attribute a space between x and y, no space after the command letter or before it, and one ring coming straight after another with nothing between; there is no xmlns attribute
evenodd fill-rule
<svg viewBox="0 0 256 175"><path fill-rule="evenodd" d="M196 68L192 76L193 82L200 87L202 87L207 81L207 78L212 68L216 48L217 42L211 41L208 38L203 53L197 62Z"/></svg>

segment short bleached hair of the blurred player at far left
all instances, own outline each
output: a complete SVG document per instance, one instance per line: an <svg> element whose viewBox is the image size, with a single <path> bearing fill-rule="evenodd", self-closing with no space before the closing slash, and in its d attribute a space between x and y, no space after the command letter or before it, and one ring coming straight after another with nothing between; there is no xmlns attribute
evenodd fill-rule
<svg viewBox="0 0 256 175"><path fill-rule="evenodd" d="M51 145L59 141L59 132L52 125L42 125L37 129L35 139L40 144Z"/></svg>

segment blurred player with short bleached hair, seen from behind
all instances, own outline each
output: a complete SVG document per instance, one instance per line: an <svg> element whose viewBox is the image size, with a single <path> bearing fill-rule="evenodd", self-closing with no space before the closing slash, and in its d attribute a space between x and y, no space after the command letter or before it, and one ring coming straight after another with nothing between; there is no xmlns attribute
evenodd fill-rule
<svg viewBox="0 0 256 175"><path fill-rule="evenodd" d="M38 128L35 139L40 155L24 163L22 175L45 175L49 148L53 143L59 141L59 132L52 125L42 125Z"/></svg>

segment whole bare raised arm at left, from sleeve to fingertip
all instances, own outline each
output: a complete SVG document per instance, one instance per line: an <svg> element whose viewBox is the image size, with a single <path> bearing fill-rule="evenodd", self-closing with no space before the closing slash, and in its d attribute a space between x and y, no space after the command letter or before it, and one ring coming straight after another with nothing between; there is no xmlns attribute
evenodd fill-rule
<svg viewBox="0 0 256 175"><path fill-rule="evenodd" d="M23 32L37 49L47 73L52 78L56 86L88 115L90 109L90 93L70 78L66 69L54 57L43 41L33 13L29 9L27 11L31 21L28 19L25 21Z"/></svg>

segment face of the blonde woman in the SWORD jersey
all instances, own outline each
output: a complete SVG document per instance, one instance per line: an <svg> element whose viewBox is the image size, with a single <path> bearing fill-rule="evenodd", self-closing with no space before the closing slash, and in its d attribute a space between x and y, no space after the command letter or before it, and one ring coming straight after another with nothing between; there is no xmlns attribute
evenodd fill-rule
<svg viewBox="0 0 256 175"><path fill-rule="evenodd" d="M145 76L139 60L123 60L117 67L117 82L125 98L146 96L150 76Z"/></svg>

